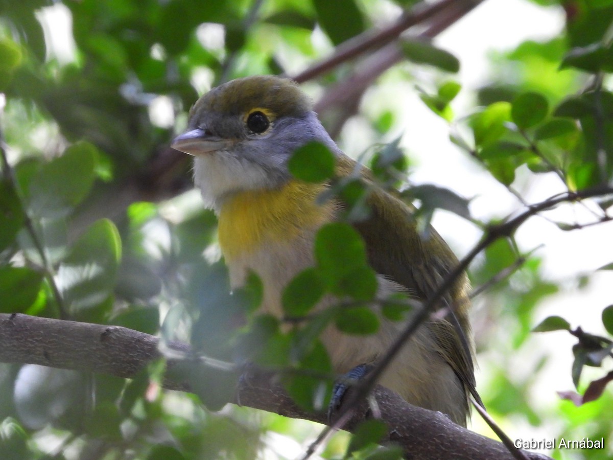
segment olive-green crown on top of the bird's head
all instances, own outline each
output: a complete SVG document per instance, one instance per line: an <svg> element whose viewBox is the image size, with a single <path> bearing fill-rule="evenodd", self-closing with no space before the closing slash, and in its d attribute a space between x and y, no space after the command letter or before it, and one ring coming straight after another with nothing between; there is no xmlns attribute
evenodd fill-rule
<svg viewBox="0 0 613 460"><path fill-rule="evenodd" d="M219 85L202 96L189 112L218 112L241 115L256 107L268 109L275 117L300 117L313 110L306 94L291 80L274 75L256 75Z"/></svg>

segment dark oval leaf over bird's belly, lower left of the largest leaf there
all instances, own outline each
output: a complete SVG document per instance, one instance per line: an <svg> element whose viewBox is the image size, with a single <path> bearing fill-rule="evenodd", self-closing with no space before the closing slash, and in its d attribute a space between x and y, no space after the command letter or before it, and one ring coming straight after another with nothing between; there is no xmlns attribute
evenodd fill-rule
<svg viewBox="0 0 613 460"><path fill-rule="evenodd" d="M283 290L283 311L289 316L306 315L324 296L325 289L326 285L314 267L302 270Z"/></svg>

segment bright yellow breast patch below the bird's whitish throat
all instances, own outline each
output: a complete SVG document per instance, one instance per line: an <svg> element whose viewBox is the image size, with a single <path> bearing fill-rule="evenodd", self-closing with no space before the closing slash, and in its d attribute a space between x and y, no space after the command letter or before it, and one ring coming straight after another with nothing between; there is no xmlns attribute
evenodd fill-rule
<svg viewBox="0 0 613 460"><path fill-rule="evenodd" d="M219 211L219 245L226 261L259 250L264 244L289 242L332 218L334 205L316 203L324 185L292 180L273 190L233 194Z"/></svg>

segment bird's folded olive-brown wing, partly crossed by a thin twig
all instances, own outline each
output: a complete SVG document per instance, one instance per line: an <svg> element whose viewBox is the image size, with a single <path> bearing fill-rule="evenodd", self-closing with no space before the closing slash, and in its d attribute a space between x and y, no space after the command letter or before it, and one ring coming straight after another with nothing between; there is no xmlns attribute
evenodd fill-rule
<svg viewBox="0 0 613 460"><path fill-rule="evenodd" d="M457 258L435 229L430 228L427 236L420 236L412 210L397 197L373 185L367 203L370 217L354 223L354 227L364 239L371 267L405 286L417 299L427 299L458 263ZM454 312L466 312L470 301L465 274L455 280L441 300L440 306L445 304L451 305ZM466 391L476 395L468 337L470 324L465 314L455 315L455 318L459 327L454 325L452 318L430 320L428 328L438 343L437 351L463 382ZM464 337L459 329L464 331Z"/></svg>

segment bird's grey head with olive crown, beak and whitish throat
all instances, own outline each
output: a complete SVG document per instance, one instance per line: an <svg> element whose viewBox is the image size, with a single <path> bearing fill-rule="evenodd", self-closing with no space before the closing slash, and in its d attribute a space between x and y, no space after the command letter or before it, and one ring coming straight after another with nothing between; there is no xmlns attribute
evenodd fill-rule
<svg viewBox="0 0 613 460"><path fill-rule="evenodd" d="M205 204L219 209L237 191L286 183L287 160L311 140L338 152L310 99L290 80L268 75L232 80L202 96L172 148L195 157L194 181Z"/></svg>

